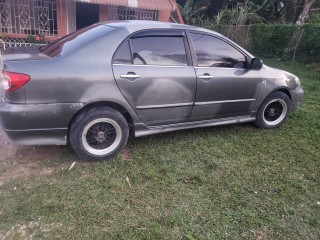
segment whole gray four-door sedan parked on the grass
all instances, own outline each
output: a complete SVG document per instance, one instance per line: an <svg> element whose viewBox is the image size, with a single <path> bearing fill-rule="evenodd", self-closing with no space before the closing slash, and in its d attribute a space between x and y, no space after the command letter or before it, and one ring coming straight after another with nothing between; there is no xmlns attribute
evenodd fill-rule
<svg viewBox="0 0 320 240"><path fill-rule="evenodd" d="M299 78L193 26L99 23L44 47L3 54L0 121L18 144L70 143L88 160L135 137L255 122L280 126L303 98Z"/></svg>

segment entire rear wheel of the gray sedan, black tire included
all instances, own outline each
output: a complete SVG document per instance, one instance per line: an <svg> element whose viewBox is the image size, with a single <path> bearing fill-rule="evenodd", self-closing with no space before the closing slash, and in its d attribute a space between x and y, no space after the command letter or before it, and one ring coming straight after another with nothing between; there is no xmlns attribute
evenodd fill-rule
<svg viewBox="0 0 320 240"><path fill-rule="evenodd" d="M128 137L126 119L109 107L84 110L76 116L69 131L73 150L89 161L115 157L127 144Z"/></svg>

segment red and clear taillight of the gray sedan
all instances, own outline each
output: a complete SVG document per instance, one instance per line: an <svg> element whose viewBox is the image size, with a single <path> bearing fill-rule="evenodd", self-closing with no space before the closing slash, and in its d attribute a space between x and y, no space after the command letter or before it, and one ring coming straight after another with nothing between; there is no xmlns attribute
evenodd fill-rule
<svg viewBox="0 0 320 240"><path fill-rule="evenodd" d="M6 92L18 90L29 80L30 77L26 74L2 71L1 83Z"/></svg>

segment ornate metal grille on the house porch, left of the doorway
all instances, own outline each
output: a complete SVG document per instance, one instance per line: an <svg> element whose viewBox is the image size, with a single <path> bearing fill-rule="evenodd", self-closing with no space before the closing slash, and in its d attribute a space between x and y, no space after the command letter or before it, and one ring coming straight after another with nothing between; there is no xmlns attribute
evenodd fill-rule
<svg viewBox="0 0 320 240"><path fill-rule="evenodd" d="M0 33L56 36L55 0L0 0Z"/></svg>

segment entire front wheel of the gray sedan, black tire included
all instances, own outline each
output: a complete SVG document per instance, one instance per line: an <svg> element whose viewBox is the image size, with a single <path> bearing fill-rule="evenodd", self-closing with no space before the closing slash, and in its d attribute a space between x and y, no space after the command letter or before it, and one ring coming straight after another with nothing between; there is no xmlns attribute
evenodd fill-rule
<svg viewBox="0 0 320 240"><path fill-rule="evenodd" d="M291 100L287 94L271 93L260 105L255 124L265 129L279 127L288 118L290 106Z"/></svg>

